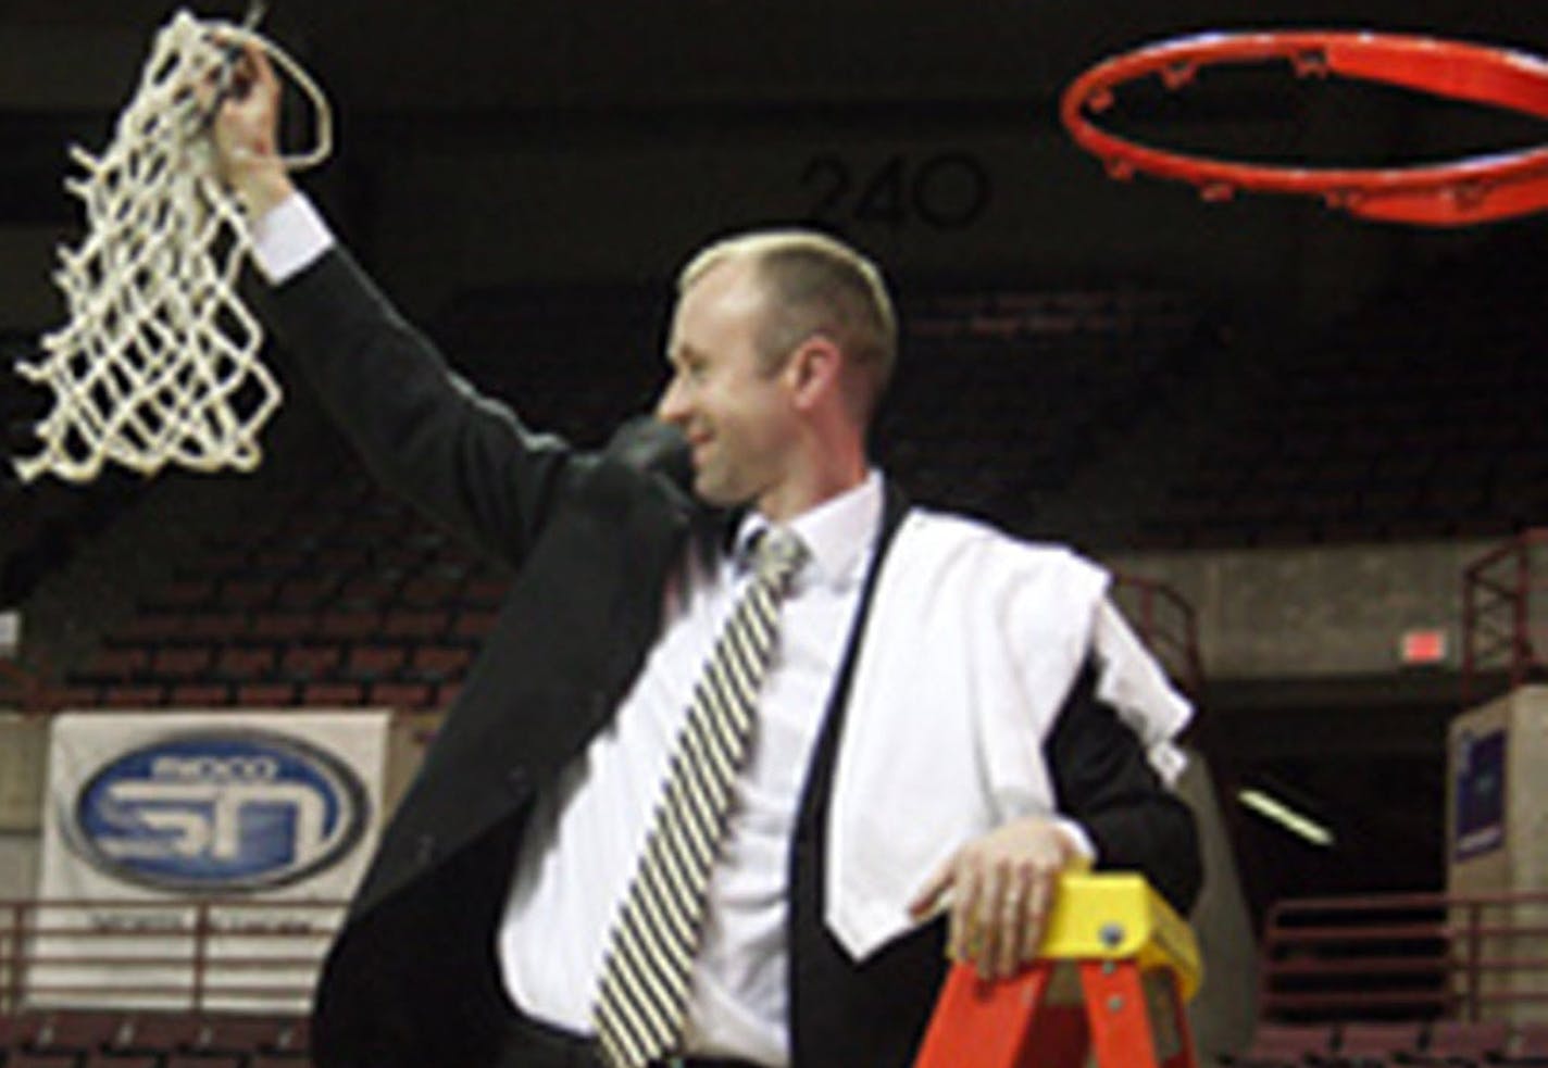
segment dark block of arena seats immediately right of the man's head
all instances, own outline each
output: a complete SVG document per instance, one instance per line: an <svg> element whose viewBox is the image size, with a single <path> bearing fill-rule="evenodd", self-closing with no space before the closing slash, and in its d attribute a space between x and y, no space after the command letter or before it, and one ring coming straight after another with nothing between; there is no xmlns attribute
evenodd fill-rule
<svg viewBox="0 0 1548 1068"><path fill-rule="evenodd" d="M921 297L904 305L882 463L920 500L1025 528L1187 379L1204 322L1153 289Z"/></svg>

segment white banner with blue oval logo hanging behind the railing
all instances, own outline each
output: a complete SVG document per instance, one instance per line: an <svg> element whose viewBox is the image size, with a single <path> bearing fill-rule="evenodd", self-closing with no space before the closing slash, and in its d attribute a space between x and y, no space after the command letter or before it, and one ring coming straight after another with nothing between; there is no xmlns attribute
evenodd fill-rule
<svg viewBox="0 0 1548 1068"><path fill-rule="evenodd" d="M305 1012L389 732L354 709L56 717L26 1003Z"/></svg>

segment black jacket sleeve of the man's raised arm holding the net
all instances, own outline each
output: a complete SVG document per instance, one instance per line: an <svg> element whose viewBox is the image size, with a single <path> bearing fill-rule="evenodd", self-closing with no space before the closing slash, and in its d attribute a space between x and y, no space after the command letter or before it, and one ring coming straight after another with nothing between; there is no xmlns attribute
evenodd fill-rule
<svg viewBox="0 0 1548 1068"><path fill-rule="evenodd" d="M342 248L255 300L372 472L519 563L587 460L455 375Z"/></svg>

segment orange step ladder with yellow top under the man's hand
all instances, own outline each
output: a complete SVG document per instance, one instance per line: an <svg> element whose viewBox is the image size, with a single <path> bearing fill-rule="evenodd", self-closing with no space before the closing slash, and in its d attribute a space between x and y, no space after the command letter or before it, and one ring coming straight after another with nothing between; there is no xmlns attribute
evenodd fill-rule
<svg viewBox="0 0 1548 1068"><path fill-rule="evenodd" d="M1060 876L1042 953L1008 980L954 964L913 1068L1195 1068L1192 929L1138 875Z"/></svg>

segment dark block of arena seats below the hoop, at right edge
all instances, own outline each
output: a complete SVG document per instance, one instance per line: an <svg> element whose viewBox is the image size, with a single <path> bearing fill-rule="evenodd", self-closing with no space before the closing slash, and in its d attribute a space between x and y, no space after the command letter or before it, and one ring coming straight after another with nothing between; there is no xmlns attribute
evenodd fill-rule
<svg viewBox="0 0 1548 1068"><path fill-rule="evenodd" d="M1543 522L1548 367L1519 254L1426 274L1277 358L1243 353L1268 384L1187 458L1138 540L1412 540Z"/></svg>

